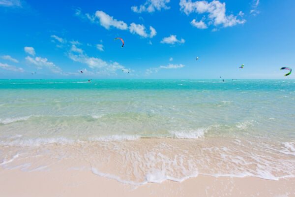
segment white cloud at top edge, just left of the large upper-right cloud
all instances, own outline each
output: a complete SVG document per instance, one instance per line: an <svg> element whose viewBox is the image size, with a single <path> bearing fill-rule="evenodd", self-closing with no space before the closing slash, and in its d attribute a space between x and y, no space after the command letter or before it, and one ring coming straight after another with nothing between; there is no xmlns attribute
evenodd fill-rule
<svg viewBox="0 0 295 197"><path fill-rule="evenodd" d="M170 0L147 0L145 4L138 6L132 6L131 10L137 13L141 12L154 12L155 10L160 11L161 8L170 9L166 4L169 3Z"/></svg>

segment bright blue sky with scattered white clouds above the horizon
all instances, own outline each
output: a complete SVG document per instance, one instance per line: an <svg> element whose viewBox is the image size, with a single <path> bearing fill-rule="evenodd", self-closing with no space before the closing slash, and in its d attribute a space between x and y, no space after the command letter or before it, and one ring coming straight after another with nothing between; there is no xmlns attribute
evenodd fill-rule
<svg viewBox="0 0 295 197"><path fill-rule="evenodd" d="M280 70L295 69L294 10L295 0L0 0L0 78L295 79Z"/></svg>

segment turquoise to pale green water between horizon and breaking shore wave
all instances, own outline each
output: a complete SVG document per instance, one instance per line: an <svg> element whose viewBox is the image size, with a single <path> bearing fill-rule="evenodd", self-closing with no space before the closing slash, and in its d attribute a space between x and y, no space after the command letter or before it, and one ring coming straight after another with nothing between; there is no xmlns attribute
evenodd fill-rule
<svg viewBox="0 0 295 197"><path fill-rule="evenodd" d="M295 138L294 80L81 82L0 80L0 136Z"/></svg>

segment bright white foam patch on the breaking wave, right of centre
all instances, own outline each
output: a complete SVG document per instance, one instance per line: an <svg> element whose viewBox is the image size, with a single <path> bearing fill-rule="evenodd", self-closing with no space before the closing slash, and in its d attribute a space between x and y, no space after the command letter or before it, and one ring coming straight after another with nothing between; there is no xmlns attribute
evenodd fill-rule
<svg viewBox="0 0 295 197"><path fill-rule="evenodd" d="M179 139L197 139L200 137L204 137L204 133L207 132L208 129L200 128L197 130L182 130L182 131L169 131L173 137Z"/></svg>

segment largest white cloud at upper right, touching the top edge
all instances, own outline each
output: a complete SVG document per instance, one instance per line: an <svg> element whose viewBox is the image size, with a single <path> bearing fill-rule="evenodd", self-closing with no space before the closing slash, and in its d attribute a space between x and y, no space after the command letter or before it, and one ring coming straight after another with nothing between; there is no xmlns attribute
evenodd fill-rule
<svg viewBox="0 0 295 197"><path fill-rule="evenodd" d="M192 2L192 0L180 0L179 5L180 10L187 15L192 12L198 14L208 13L209 24L213 23L215 26L233 27L246 22L244 19L237 19L237 16L233 14L226 15L225 3L221 3L219 0L213 0L210 3L206 0L195 2Z"/></svg>

